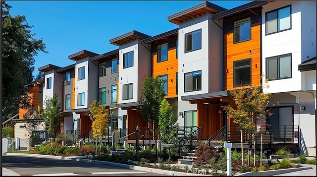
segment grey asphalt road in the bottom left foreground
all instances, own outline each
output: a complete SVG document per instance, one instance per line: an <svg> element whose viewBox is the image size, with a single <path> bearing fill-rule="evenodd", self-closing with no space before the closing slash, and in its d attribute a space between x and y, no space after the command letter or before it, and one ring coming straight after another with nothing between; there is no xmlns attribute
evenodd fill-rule
<svg viewBox="0 0 317 177"><path fill-rule="evenodd" d="M21 176L161 176L72 160L2 155L2 167Z"/></svg>

